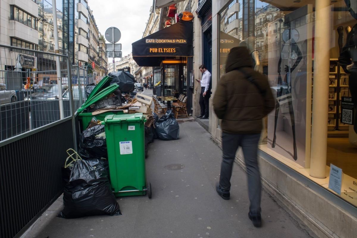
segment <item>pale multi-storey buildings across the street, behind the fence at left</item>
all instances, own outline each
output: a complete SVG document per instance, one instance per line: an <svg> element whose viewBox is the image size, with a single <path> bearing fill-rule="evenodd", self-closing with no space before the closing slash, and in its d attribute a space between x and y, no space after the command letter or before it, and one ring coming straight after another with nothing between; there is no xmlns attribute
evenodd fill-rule
<svg viewBox="0 0 357 238"><path fill-rule="evenodd" d="M54 52L54 26L52 1L47 0L2 0L0 2L0 43L45 52ZM86 0L56 1L58 41L61 54L69 55L72 64L81 67L99 63L99 30ZM11 52L2 69L13 70L18 53ZM22 70L36 69L42 56L25 55ZM93 58L93 60L91 59ZM107 59L105 55L102 58ZM14 62L10 62L10 58ZM55 62L46 62L55 67ZM102 73L103 74L103 73Z"/></svg>

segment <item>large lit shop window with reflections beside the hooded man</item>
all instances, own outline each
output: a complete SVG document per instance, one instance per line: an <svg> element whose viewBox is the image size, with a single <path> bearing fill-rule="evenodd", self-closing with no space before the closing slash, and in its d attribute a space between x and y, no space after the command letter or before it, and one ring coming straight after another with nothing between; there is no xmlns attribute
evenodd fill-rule
<svg viewBox="0 0 357 238"><path fill-rule="evenodd" d="M326 163L321 165L321 171L324 173L326 166L341 168L344 174L342 187L346 191L336 192L320 185L357 206L356 191L353 190L356 185L351 182L357 179L357 126L352 125L356 125L357 120L350 116L352 109L346 108L346 101L357 102L357 86L349 81L357 77L356 61L351 61L357 55L354 40L357 9L354 1L346 2L331 1L330 10L326 11L328 20L315 21L316 12L321 11L315 9L315 0L304 1L298 7L284 1L274 5L274 1L269 4L260 0L233 0L219 13L217 60L219 76L222 76L226 73L231 49L247 47L253 69L267 77L277 99L276 108L262 122L266 130L262 132L265 138L261 150L272 157L278 155L288 166L294 164L291 168L302 174L312 174L310 164L314 158L310 157L310 151L315 148L311 141L327 143L327 156L323 158ZM233 10L236 3L240 7ZM238 24L234 20L238 20ZM317 27L324 31L316 31ZM323 35L317 36L318 33ZM328 44L319 45L321 39ZM330 59L315 65L314 59L323 50ZM328 92L315 95L315 83L321 83L322 79L329 84ZM320 121L319 113L312 107L318 105L322 97L328 102L323 117L327 121ZM314 98L320 100L314 101ZM326 125L327 137L312 135L316 124ZM326 176L329 176L328 172Z"/></svg>

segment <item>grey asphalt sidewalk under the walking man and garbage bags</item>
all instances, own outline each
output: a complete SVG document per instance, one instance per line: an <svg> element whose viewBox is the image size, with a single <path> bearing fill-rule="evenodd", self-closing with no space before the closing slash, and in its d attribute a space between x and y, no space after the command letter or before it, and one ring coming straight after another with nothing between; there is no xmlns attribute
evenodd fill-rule
<svg viewBox="0 0 357 238"><path fill-rule="evenodd" d="M233 168L230 200L215 191L221 156L220 148L197 122L180 123L179 140L150 144L146 171L152 199L118 198L122 216L64 219L56 217L63 206L61 196L23 237L316 237L264 190L263 226L253 227L242 168L237 164ZM172 164L180 166L172 170Z"/></svg>

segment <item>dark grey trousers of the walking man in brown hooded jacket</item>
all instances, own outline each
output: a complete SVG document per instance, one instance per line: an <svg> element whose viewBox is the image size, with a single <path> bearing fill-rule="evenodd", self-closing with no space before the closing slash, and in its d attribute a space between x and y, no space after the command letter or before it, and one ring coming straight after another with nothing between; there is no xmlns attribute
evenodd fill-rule
<svg viewBox="0 0 357 238"><path fill-rule="evenodd" d="M260 134L228 134L222 133L223 158L221 164L220 187L230 191L233 162L238 147L241 146L248 174L249 210L261 212L261 182L257 160Z"/></svg>

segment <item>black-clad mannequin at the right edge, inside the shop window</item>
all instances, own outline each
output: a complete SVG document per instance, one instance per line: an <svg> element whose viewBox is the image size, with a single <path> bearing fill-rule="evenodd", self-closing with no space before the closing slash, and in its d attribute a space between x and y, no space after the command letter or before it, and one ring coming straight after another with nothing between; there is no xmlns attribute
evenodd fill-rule
<svg viewBox="0 0 357 238"><path fill-rule="evenodd" d="M345 0L345 2L351 16L357 19L357 10L351 8L350 0ZM342 48L338 61L340 62L342 69L349 74L348 84L355 107L353 130L357 133L357 24L352 28L348 27L347 29L351 29L351 31L347 34L346 44Z"/></svg>

